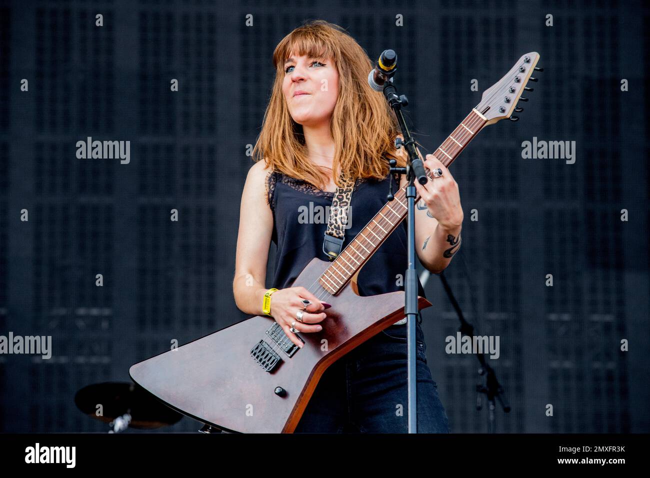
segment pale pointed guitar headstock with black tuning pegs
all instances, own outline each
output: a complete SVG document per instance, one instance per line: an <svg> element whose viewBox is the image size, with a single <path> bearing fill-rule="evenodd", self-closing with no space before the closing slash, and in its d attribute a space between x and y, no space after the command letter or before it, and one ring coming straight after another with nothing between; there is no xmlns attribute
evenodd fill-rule
<svg viewBox="0 0 650 478"><path fill-rule="evenodd" d="M504 77L485 90L475 109L486 117L486 124L493 124L504 118L519 120L517 116L512 116L512 113L523 111L523 108L517 107L517 101L528 101L528 98L522 98L521 94L533 90L526 86L528 81L537 81L537 78L531 76L532 73L543 71L536 67L538 60L539 53L536 51L526 53Z"/></svg>

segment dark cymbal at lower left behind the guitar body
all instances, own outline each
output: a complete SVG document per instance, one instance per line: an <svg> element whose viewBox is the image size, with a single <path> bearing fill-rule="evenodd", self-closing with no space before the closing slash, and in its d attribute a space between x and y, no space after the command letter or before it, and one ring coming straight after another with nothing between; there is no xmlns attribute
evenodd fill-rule
<svg viewBox="0 0 650 478"><path fill-rule="evenodd" d="M88 385L75 394L75 405L89 417L104 423L128 413L131 415L129 427L136 429L166 427L183 418L142 387L127 382Z"/></svg>

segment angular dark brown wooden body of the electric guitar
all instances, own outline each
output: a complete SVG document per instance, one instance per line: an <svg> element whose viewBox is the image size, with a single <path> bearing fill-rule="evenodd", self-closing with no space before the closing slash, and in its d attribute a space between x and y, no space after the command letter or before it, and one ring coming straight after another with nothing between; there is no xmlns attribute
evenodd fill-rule
<svg viewBox="0 0 650 478"><path fill-rule="evenodd" d="M312 259L292 287L309 289L330 265ZM166 405L226 431L293 432L320 377L336 360L404 317L404 292L361 297L356 276L331 304L320 332L298 332L305 345L294 347L283 331L267 334L276 322L257 315L164 352L129 370L136 384ZM419 297L419 309L432 304ZM264 341L271 349L263 363L252 349ZM291 356L283 348L295 349ZM259 350L259 347L257 347ZM267 350L268 351L268 350ZM268 362L279 357L272 370ZM276 393L281 387L282 391Z"/></svg>

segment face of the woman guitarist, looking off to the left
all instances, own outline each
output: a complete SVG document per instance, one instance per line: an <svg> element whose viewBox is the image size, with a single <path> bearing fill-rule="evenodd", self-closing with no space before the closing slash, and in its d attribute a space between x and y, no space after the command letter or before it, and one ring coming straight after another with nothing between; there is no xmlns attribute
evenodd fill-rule
<svg viewBox="0 0 650 478"><path fill-rule="evenodd" d="M291 117L302 126L329 123L339 96L339 73L333 59L289 56L282 91Z"/></svg>

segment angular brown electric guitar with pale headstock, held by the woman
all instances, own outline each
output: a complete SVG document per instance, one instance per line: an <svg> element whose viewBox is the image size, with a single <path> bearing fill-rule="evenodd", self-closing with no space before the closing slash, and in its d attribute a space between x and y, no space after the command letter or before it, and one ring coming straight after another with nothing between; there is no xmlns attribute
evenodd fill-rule
<svg viewBox="0 0 650 478"><path fill-rule="evenodd" d="M521 111L516 105L539 55L523 55L465 116L434 155L449 166L486 125ZM428 170L427 170L428 171ZM427 172L432 178L432 173ZM433 179L433 178L432 178ZM419 200L418 195L415 202ZM395 194L333 261L312 259L302 285L331 304L320 332L298 333L297 347L271 317L257 315L135 364L136 384L164 404L227 432L293 432L318 380L333 362L404 316L404 291L358 295L357 277L404 220L406 187ZM432 304L418 298L419 310Z"/></svg>

